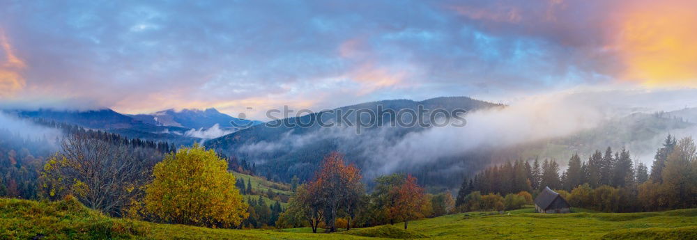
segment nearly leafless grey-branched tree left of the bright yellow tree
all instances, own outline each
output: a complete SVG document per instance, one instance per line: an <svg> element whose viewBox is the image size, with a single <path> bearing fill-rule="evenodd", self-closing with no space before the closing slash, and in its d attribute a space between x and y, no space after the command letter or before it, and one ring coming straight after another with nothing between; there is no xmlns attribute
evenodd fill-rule
<svg viewBox="0 0 697 240"><path fill-rule="evenodd" d="M87 207L121 216L147 179L146 164L125 145L73 134L44 166L43 195L50 200L73 195Z"/></svg>

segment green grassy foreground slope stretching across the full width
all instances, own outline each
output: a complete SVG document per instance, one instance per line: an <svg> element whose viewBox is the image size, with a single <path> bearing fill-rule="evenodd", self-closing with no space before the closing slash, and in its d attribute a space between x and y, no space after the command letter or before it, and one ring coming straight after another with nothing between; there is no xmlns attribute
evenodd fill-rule
<svg viewBox="0 0 697 240"><path fill-rule="evenodd" d="M34 202L0 199L0 239L697 239L697 209L606 214L535 214L532 209L510 215L487 212L453 214L402 225L378 226L312 234L309 229L215 230L107 218L74 201ZM493 214L493 215L492 215ZM367 236L367 237L362 237ZM376 237L369 237L376 236Z"/></svg>

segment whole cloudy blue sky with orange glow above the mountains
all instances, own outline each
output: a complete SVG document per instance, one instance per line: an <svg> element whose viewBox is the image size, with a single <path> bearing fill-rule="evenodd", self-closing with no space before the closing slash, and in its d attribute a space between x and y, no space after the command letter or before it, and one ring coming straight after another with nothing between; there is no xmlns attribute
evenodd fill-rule
<svg viewBox="0 0 697 240"><path fill-rule="evenodd" d="M0 0L0 104L259 118L283 105L684 90L697 87L694 9L689 0Z"/></svg>

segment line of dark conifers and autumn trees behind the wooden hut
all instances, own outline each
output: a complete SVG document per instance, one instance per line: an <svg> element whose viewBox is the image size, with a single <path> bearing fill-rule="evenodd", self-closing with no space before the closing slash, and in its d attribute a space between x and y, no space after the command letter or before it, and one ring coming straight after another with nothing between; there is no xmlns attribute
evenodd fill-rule
<svg viewBox="0 0 697 240"><path fill-rule="evenodd" d="M549 186L573 207L599 211L655 211L697 207L697 154L692 138L668 136L657 150L649 173L643 163L634 166L629 151L596 150L588 161L578 154L565 171L554 160L514 161L482 170L461 184L456 205L471 211L482 193L533 193Z"/></svg>

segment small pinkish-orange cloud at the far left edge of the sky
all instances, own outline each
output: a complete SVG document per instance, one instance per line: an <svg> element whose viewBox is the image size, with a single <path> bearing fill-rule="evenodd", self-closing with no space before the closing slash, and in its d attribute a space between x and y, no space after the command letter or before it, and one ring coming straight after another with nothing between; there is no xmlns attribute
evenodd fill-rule
<svg viewBox="0 0 697 240"><path fill-rule="evenodd" d="M20 74L20 70L24 69L26 64L15 56L12 45L1 29L0 47L3 50L0 56L4 55L4 59L0 58L0 97L9 97L26 85L26 81Z"/></svg>

